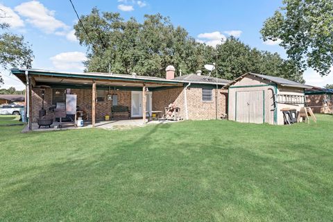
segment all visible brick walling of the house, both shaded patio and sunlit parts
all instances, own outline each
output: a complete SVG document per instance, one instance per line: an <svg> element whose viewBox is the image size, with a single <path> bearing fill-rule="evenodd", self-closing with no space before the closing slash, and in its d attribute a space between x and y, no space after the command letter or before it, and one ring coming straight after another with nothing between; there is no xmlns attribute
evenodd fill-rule
<svg viewBox="0 0 333 222"><path fill-rule="evenodd" d="M212 91L212 101L202 101L202 88L190 87L187 89L187 108L189 119L215 119L215 90ZM228 98L225 89L219 89L218 96L218 117L226 113L226 100ZM77 105L80 110L87 112L89 119L92 118L92 89L71 89L71 94L77 95ZM108 101L107 95L113 94L113 91L104 90L104 101L96 103L96 119L103 119L105 114L110 114L112 101ZM118 95L118 105L126 105L130 108L131 92L116 91ZM37 121L38 111L42 109L42 90L33 88L33 122ZM180 107L180 116L186 119L185 103L184 103L184 88L178 87L173 89L164 89L153 92L152 109L162 110L170 103L175 103ZM51 114L49 108L52 105L52 89L45 89L44 108L46 114Z"/></svg>

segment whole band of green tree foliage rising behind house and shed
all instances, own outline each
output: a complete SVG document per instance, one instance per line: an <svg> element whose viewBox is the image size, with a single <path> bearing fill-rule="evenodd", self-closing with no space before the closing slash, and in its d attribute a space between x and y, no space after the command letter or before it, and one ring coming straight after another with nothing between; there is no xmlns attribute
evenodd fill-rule
<svg viewBox="0 0 333 222"><path fill-rule="evenodd" d="M215 49L196 42L185 28L174 27L160 14L145 15L144 22L139 23L93 8L80 20L83 26L78 23L74 28L80 44L88 47L87 71L108 72L110 66L113 73L164 77L168 65L175 66L178 73L181 69L189 74L217 60L221 78L234 79L253 71L302 81L295 64L278 53L251 49L234 37Z"/></svg>

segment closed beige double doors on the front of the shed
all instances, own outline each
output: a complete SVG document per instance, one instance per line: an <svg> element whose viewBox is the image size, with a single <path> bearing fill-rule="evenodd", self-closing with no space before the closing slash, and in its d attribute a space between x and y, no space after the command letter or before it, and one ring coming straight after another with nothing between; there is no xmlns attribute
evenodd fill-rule
<svg viewBox="0 0 333 222"><path fill-rule="evenodd" d="M264 123L264 91L236 92L236 121Z"/></svg>

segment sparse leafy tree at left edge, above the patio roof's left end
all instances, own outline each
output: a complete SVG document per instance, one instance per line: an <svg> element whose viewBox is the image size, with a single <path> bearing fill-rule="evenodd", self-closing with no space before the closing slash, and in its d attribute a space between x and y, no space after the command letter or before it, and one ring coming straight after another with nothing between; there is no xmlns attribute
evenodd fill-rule
<svg viewBox="0 0 333 222"><path fill-rule="evenodd" d="M6 18L6 14L0 9L0 29L6 30L9 24L1 22L3 18ZM10 33L0 35L0 67L2 69L8 70L13 67L31 68L32 62L33 51L31 50L31 46L24 42L22 35L13 35ZM3 83L1 76L0 83Z"/></svg>

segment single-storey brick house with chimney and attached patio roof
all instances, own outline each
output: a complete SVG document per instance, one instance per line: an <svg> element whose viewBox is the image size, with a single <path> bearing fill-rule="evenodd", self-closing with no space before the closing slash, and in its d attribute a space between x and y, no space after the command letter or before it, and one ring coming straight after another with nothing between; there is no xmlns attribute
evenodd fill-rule
<svg viewBox="0 0 333 222"><path fill-rule="evenodd" d="M132 118L144 122L148 112L164 112L170 103L180 108L182 119L219 119L227 110L228 90L222 87L230 83L202 76L200 71L175 78L173 66L167 67L166 78L40 69L12 69L12 74L27 85L29 126L39 117L43 92L46 112L63 102L65 94L76 94L77 106L85 110L93 126L96 120L110 115L112 105L127 106Z"/></svg>

